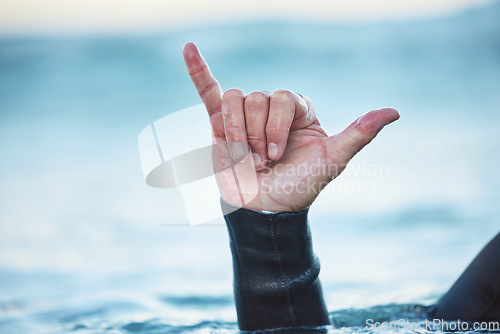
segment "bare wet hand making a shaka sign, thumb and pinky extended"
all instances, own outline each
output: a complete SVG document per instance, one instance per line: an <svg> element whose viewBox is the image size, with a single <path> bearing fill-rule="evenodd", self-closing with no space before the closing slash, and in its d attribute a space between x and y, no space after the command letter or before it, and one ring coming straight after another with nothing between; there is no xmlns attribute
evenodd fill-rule
<svg viewBox="0 0 500 334"><path fill-rule="evenodd" d="M239 207L306 209L357 152L399 118L395 109L370 111L329 137L309 98L286 90L222 94L193 43L184 46L184 60L210 116L221 196Z"/></svg>

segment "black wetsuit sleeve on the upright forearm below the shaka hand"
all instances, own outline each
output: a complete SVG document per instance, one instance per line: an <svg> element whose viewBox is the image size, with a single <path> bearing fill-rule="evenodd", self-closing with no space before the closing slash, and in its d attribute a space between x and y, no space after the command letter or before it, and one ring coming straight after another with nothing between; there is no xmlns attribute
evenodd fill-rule
<svg viewBox="0 0 500 334"><path fill-rule="evenodd" d="M313 253L308 211L262 213L222 201L242 331L323 331L328 312Z"/></svg>

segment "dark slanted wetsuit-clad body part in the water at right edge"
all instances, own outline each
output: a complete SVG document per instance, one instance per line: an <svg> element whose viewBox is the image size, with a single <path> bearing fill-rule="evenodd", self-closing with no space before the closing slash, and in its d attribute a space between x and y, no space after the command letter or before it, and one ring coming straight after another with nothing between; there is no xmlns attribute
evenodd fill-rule
<svg viewBox="0 0 500 334"><path fill-rule="evenodd" d="M429 315L444 320L500 320L500 233L430 308Z"/></svg>

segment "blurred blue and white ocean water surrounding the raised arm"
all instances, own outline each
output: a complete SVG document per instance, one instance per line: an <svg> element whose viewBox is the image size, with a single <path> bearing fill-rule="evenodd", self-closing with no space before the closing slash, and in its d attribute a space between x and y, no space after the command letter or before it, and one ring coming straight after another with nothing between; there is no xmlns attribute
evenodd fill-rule
<svg viewBox="0 0 500 334"><path fill-rule="evenodd" d="M223 89L305 94L330 134L401 112L310 221L330 332L422 320L500 227L499 16L2 37L0 333L237 332L225 228L179 226L180 194L146 186L137 149L200 102L190 40Z"/></svg>

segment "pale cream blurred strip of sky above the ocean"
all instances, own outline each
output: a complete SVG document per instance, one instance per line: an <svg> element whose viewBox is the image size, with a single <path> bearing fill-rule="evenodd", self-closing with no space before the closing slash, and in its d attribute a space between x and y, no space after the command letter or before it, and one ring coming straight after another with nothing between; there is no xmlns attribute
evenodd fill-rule
<svg viewBox="0 0 500 334"><path fill-rule="evenodd" d="M1 34L134 32L253 19L372 21L451 12L488 0L1 0Z"/></svg>

